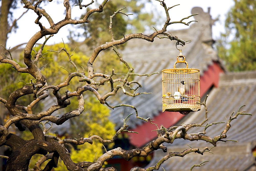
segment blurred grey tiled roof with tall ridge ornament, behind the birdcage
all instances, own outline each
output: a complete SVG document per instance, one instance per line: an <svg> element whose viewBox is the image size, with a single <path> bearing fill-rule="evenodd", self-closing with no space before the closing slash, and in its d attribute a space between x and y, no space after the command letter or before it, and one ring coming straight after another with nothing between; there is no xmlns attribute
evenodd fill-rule
<svg viewBox="0 0 256 171"><path fill-rule="evenodd" d="M186 61L191 68L198 68L200 76L204 75L204 71L219 58L212 48L214 40L211 35L211 25L213 20L208 12L204 12L202 8L195 7L192 13L199 13L194 23L188 29L170 31L173 35L178 36L182 40L192 40L189 44L182 47L182 53L186 56ZM127 42L124 50L120 51L124 60L132 64L134 73L148 74L159 72L166 68L173 68L179 51L175 48L175 41L169 39L155 39L154 42L147 42L141 39L133 39ZM182 65L182 66L180 66ZM177 68L182 68L184 64L177 64ZM162 87L161 74L154 74L150 77L136 78L142 84L142 88L137 92L150 92L152 94L141 94L135 98L121 96L120 101L124 104L130 104L137 108L138 115L143 118L158 115L162 111ZM160 85L160 86L159 86ZM116 101L109 99L110 105L117 105ZM116 127L122 126L123 118L130 113L135 113L133 109L127 107L115 108L111 111L110 120ZM129 127L134 128L143 121L131 116Z"/></svg>

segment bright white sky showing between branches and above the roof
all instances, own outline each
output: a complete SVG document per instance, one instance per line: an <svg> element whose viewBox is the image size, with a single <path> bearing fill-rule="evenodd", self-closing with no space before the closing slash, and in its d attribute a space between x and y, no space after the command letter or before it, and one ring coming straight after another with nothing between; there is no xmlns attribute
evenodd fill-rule
<svg viewBox="0 0 256 171"><path fill-rule="evenodd" d="M54 2L54 1L53 1ZM84 0L83 4L89 3L91 0ZM208 11L208 7L211 7L210 9L210 15L213 19L216 19L218 16L220 21L215 22L215 26L212 27L213 31L213 38L217 39L220 36L220 32L223 32L224 29L224 22L226 18L226 14L228 10L234 5L233 0L166 0L165 3L168 7L180 4L170 10L170 17L171 21L177 21L184 17L187 17L191 15L191 9L193 7L201 7L203 8L204 12ZM52 4L52 2L50 3ZM163 7L159 4L159 2L156 1L156 5L159 6L159 10L163 11ZM23 5L24 6L24 5ZM59 4L58 8L53 8L52 6L44 6L43 7L46 12L53 18L54 22L57 23L60 20L64 19L64 10L65 7L63 4ZM18 11L15 11L15 17L17 18L20 14L22 14L25 11L24 8L20 8ZM79 17L81 14L83 14L86 11L85 8L82 10L79 9L78 6L72 7L72 13L71 17L72 19L76 19L76 17ZM163 11L164 12L164 11ZM56 15L59 14L59 15ZM164 15L164 13L163 13ZM37 18L37 15L34 13L34 11L30 10L27 12L19 21L16 33L12 33L9 35L8 41L7 41L7 48L14 47L18 44L28 42L29 39L38 32L39 26L34 23L35 19ZM47 20L42 17L40 19L40 22L46 27L49 28L49 24L47 23ZM68 27L70 26L64 26L60 29L59 33L51 37L47 44L55 44L62 42L62 38L64 42L68 42L67 36L68 33ZM188 26L182 25L182 24L173 24L167 27L168 30L172 29L183 29L188 28ZM108 28L107 28L108 29ZM39 43L44 42L44 38L39 40Z"/></svg>

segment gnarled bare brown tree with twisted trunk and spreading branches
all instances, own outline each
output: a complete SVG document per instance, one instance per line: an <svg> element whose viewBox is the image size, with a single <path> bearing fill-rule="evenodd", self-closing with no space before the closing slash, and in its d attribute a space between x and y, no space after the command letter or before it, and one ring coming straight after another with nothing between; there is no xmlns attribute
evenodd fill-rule
<svg viewBox="0 0 256 171"><path fill-rule="evenodd" d="M49 0L51 2L52 0ZM28 41L26 44L26 47L24 49L24 56L23 61L27 68L22 68L16 61L13 60L12 54L10 53L10 50L6 49L6 51L9 53L10 57L5 57L0 55L0 62L1 63L7 63L13 66L13 68L16 69L17 72L20 73L26 73L27 75L31 75L35 78L35 81L30 82L29 85L25 85L22 88L18 88L12 93L9 94L9 97L0 98L0 102L2 102L8 112L12 115L7 121L4 122L3 125L0 125L0 146L6 145L12 148L13 152L8 157L6 156L0 156L3 158L8 158L7 160L7 170L27 170L29 161L31 157L35 154L43 154L44 156L41 157L36 165L34 166L35 170L41 170L42 163L46 162L50 159L50 161L46 164L45 168L43 170L51 170L53 167L57 167L58 159L60 158L64 164L66 165L68 170L116 170L115 168L102 168L105 161L108 159L111 159L115 156L121 156L125 160L130 160L135 156L141 156L146 157L149 153L157 150L162 149L164 152L167 152L166 146L163 145L163 143L173 143L177 138L183 138L185 140L189 141L195 141L195 140L201 140L205 142L211 143L213 146L216 146L216 143L218 141L234 141L234 140L225 140L227 137L227 132L229 131L231 127L231 121L236 119L239 115L251 115L248 113L244 113L244 111L240 112L241 108L237 111L237 113L231 114L229 120L227 120L226 127L223 129L222 133L220 135L216 135L214 137L210 137L206 135L206 130L210 129L212 125L214 124L220 124L224 122L213 122L213 123L207 123L205 126L204 124L206 121L208 121L208 109L206 106L206 99L204 102L199 103L201 105L204 105L205 107L205 120L201 123L192 123L192 124L182 124L178 126L171 126L169 128L165 128L164 126L158 126L155 123L152 123L153 120L151 120L150 117L143 118L138 115L138 111L135 106L130 104L119 104L119 105L113 105L111 106L106 100L113 95L116 95L118 91L122 91L124 94L129 95L131 97L138 96L140 94L148 94L146 92L138 92L137 90L139 88L142 88L142 84L138 82L137 80L131 80L131 76L151 76L153 74L156 74L158 72L154 73L133 73L134 69L129 66L129 64L123 60L122 55L119 53L118 49L115 45L122 45L125 42L131 40L131 39L143 39L145 41L153 42L154 39L157 38L168 38L169 40L175 40L177 41L177 44L179 45L185 45L187 41L179 39L177 36L173 36L172 34L166 33L167 27L174 23L181 23L184 25L189 25L191 22L184 22L185 19L189 19L192 16L195 16L197 14L190 15L188 17L182 18L179 21L170 22L170 15L169 11L172 9L172 7L167 7L164 0L156 0L160 2L162 7L165 10L166 14L166 20L165 23L163 23L163 27L160 30L155 29L155 31L150 35L145 35L142 33L134 33L130 35L126 35L123 38L119 40L114 39L114 33L112 31L113 26L113 17L115 17L116 14L124 14L129 15L121 12L125 8L120 8L114 12L112 16L110 16L110 24L109 24L109 31L111 39L109 42L106 42L103 45L100 45L94 49L93 52L91 52L91 56L89 60L87 61L87 71L83 69L83 71L80 71L76 65L76 61L72 60L72 55L74 53L70 53L64 44L64 48L60 48L59 51L55 51L57 53L60 53L61 51L65 51L68 60L73 68L75 68L75 72L69 72L68 69L66 69L69 73L67 76L63 76L63 79L65 79L64 82L57 83L56 85L48 85L46 82L46 77L41 72L41 68L45 67L42 66L41 68L38 68L38 62L39 59L44 58L42 54L42 51L45 48L47 40L52 37L54 34L57 34L60 28L62 28L65 25L68 24L83 24L89 22L89 17L95 13L95 12L102 12L105 8L106 3L108 3L108 0L102 0L101 4L98 8L94 9L88 9L87 13L84 15L82 19L72 19L71 18L71 6L69 0L63 0L63 5L66 8L66 15L65 18L60 20L57 23L54 23L51 16L44 10L43 8L40 8L39 5L41 5L41 0L32 3L30 3L27 0L22 0L23 4L25 5L25 8L28 10L33 10L37 14L37 18L35 20L35 23L39 25L40 30ZM87 7L91 4L93 4L94 1L92 0L87 5L82 5L81 1L78 1L79 8L82 9L82 7ZM34 5L33 5L34 4ZM176 5L175 5L176 6ZM50 25L49 28L46 28L43 23L40 22L41 18L45 17ZM14 21L15 24L16 20ZM13 27L13 26L12 26ZM12 29L12 27L10 29ZM160 37L160 35L163 35L163 37ZM46 37L44 43L40 46L40 49L36 52L34 46L36 45L37 41L41 39L42 37ZM64 42L63 42L64 43ZM112 48L116 55L119 57L119 60L123 63L123 65L127 68L126 73L115 73L114 70L111 74L105 74L104 73L97 73L94 72L93 63L95 62L95 59L99 57L99 53L103 50L106 50L108 48ZM31 52L35 51L34 60L32 61L31 58ZM74 52L74 51L73 51ZM14 58L15 59L15 58ZM41 60L40 59L40 60ZM64 68L65 69L65 68ZM65 71L66 72L66 71ZM114 79L115 76L120 76L122 78ZM67 86L69 86L73 82L73 78L79 78L81 86L76 86L76 91L69 91L65 89ZM94 78L96 78L95 81ZM73 80L72 80L73 79ZM72 81L71 81L72 80ZM99 86L103 86L106 82L110 82L110 92L105 94L100 94L101 92L98 91ZM131 86L131 84L135 84L135 88ZM71 89L70 89L71 90ZM64 93L65 92L65 93ZM44 110L35 113L34 108L36 104L44 104L44 101L46 99L49 99L49 94L52 93L52 99L57 101L57 104L50 104L49 106L44 106ZM123 120L123 126L120 127L120 129L112 136L112 138L109 140L103 139L103 136L99 135L92 135L88 138L80 137L78 140L76 138L59 138L56 134L56 136L52 135L45 135L49 129L52 127L52 124L61 125L64 122L68 121L72 117L77 117L81 115L81 113L85 110L85 100L83 97L84 93L90 93L93 96L95 96L101 104L106 104L109 108L114 109L117 107L125 106L129 107L135 110L136 118L141 119L146 122L150 122L151 124L154 124L157 127L156 136L154 141L149 142L146 146L142 148L135 148L135 149L129 149L125 150L120 147L117 147L115 149L111 149L109 151L106 150L106 152L101 155L97 160L95 159L95 162L88 162L83 161L80 163L74 163L71 158L70 154L65 148L64 144L74 144L74 145L82 145L84 143L89 143L88 145L93 143L93 139L98 140L100 143L114 143L115 139L120 135L122 132L128 132L128 133L138 133L128 130L128 121L130 119L130 116L132 114L129 114L124 118ZM24 97L25 95L29 95L30 97L33 97L33 100L27 101L28 103L25 104L18 104L19 99L21 97ZM71 104L70 98L76 97L78 106L76 109L68 110L69 112L63 112L61 116L55 116L53 113L55 111L58 111L60 109L66 108L68 105ZM87 98L87 96L85 96ZM73 104L72 104L73 105ZM73 107L73 106L72 106ZM49 123L51 122L51 124ZM33 139L26 141L23 140L21 137L12 134L9 132L9 128L12 124L15 124L16 127L20 131L24 131L26 128L32 133ZM49 127L46 126L46 124L50 124ZM39 124L41 124L39 126ZM197 133L188 133L188 131L193 127L203 127L202 132ZM207 130L208 131L208 130ZM106 149L106 148L105 148ZM49 152L49 154L47 154ZM173 156L180 156L183 157L186 154L189 154L191 152L195 152L198 154L203 155L204 152L211 153L210 149L208 147L205 147L202 150L199 150L198 148L190 148L187 149L181 153L178 152L171 152L164 156L159 162L156 163L155 166L148 167L146 169L140 168L140 167L134 167L132 170L154 170L159 169L161 164ZM26 153L26 155L24 155ZM207 161L205 161L207 162ZM199 165L193 165L193 167L196 166L202 166L204 163L201 163ZM83 169L85 168L85 169Z"/></svg>

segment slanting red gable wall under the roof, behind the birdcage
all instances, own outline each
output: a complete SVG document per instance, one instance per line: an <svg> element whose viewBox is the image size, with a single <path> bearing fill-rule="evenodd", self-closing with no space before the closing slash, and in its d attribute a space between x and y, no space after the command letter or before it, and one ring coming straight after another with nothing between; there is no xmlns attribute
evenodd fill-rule
<svg viewBox="0 0 256 171"><path fill-rule="evenodd" d="M200 77L200 96L202 97L212 86L218 87L219 82L219 74L222 73L223 70L221 69L218 62L214 62L211 66L208 66L208 70L204 71L202 77ZM161 100L161 99L159 99ZM151 118L153 123L158 124L158 127L163 125L164 127L168 128L170 126L175 125L182 117L185 115L180 114L179 112L160 112L154 118ZM129 140L132 145L136 148L139 148L146 143L152 141L156 135L157 127L150 122L145 122L142 125L137 126L135 129L131 129L129 131L135 131L136 133L129 134Z"/></svg>

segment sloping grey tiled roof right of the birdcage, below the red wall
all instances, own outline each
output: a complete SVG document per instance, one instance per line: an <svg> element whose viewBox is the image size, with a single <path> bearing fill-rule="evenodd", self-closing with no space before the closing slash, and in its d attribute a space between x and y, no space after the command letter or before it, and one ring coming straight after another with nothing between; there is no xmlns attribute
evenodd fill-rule
<svg viewBox="0 0 256 171"><path fill-rule="evenodd" d="M237 72L222 74L220 77L219 87L214 88L207 99L206 105L208 108L208 123L225 122L233 112L242 105L241 111L254 114L256 112L256 71ZM184 121L188 123L198 123L204 120L205 114L202 108L201 111L194 112ZM224 129L225 124L213 125L207 131L208 135L220 134ZM197 132L201 128L196 127L193 132ZM231 128L228 133L228 139L235 139L239 142L256 141L256 115L239 116L238 119L231 122ZM186 144L187 142L179 142ZM198 144L198 142L196 143ZM218 145L218 144L217 144Z"/></svg>

